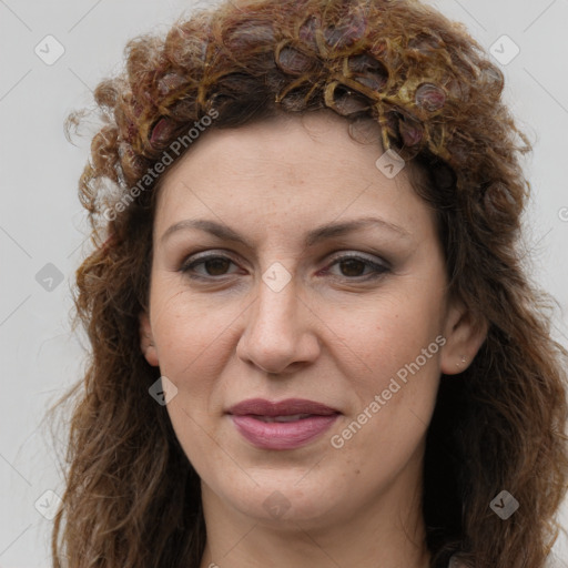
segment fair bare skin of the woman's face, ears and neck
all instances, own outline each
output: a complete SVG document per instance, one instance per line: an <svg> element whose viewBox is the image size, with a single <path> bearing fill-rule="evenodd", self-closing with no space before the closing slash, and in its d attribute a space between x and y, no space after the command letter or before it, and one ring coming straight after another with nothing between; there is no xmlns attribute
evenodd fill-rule
<svg viewBox="0 0 568 568"><path fill-rule="evenodd" d="M385 176L377 140L378 131L373 142L353 140L328 110L210 129L164 179L141 348L178 388L166 408L202 479L201 568L428 566L427 425L440 373L464 371L484 333L448 298L434 214L409 185L409 166ZM304 245L316 226L365 216L400 231L373 225ZM197 229L163 239L187 219L224 223L248 245ZM204 251L229 261L181 271ZM354 254L388 270L368 280L372 266L335 262ZM275 262L292 276L280 292L262 278ZM437 336L445 345L333 447ZM307 398L342 415L304 447L258 449L225 414L253 397ZM266 503L282 503L280 516Z"/></svg>

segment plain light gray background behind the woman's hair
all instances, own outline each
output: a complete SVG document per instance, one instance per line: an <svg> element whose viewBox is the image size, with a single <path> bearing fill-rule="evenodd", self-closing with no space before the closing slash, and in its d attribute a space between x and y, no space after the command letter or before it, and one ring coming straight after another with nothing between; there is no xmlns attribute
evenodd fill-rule
<svg viewBox="0 0 568 568"><path fill-rule="evenodd" d="M494 45L500 58L506 100L535 144L526 162L534 187L526 217L534 278L557 298L554 333L568 346L568 0L432 3L463 21L485 49ZM130 38L165 31L192 6L191 0L0 0L0 568L51 566L51 520L39 510L50 510L53 497L45 491L61 494L62 484L41 419L83 368L84 339L70 334L69 313L70 286L87 251L77 183L90 140L71 145L63 120L91 104L91 90L120 68ZM61 49L58 43L64 53L47 64ZM519 53L509 62L516 45ZM566 527L568 507L562 515ZM564 536L555 552L558 566L568 566Z"/></svg>

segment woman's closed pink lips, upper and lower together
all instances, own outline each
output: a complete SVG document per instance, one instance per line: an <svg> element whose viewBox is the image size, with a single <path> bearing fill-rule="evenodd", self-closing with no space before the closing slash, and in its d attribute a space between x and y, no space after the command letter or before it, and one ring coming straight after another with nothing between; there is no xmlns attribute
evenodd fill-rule
<svg viewBox="0 0 568 568"><path fill-rule="evenodd" d="M288 398L271 403L263 398L252 398L232 406L231 415L240 434L262 449L294 449L304 446L328 429L339 416L339 412L313 400ZM275 416L310 415L292 422L263 422Z"/></svg>

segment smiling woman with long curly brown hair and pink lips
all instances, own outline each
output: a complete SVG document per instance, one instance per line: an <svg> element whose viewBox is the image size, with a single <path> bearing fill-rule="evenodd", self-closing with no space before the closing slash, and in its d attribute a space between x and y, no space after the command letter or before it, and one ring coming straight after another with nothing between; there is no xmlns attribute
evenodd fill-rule
<svg viewBox="0 0 568 568"><path fill-rule="evenodd" d="M567 353L480 47L414 0L251 0L126 57L54 565L542 568Z"/></svg>

